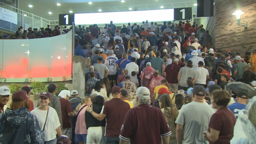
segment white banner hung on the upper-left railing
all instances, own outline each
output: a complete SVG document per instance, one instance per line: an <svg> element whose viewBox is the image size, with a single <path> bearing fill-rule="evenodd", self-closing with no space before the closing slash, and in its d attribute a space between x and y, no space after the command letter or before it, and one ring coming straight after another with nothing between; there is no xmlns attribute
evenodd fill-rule
<svg viewBox="0 0 256 144"><path fill-rule="evenodd" d="M0 8L0 19L14 24L18 24L18 14L8 9Z"/></svg>

